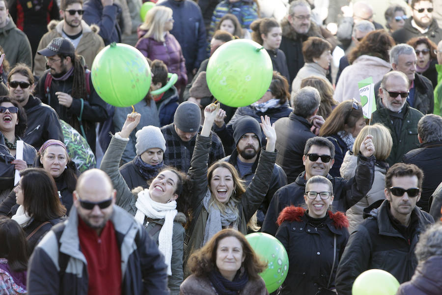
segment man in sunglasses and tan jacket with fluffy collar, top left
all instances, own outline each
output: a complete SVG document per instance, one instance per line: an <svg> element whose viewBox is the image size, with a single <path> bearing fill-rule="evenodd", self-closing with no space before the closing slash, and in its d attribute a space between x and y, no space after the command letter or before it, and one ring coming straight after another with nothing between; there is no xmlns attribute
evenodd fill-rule
<svg viewBox="0 0 442 295"><path fill-rule="evenodd" d="M104 47L103 39L98 35L98 26L90 27L82 20L83 0L61 0L60 15L62 21L52 20L49 31L43 35L38 44L38 49L42 50L48 46L49 42L56 37L64 37L74 44L77 54L84 58L86 66L90 69L95 56ZM42 55L35 55L34 75L40 77L46 70L46 60Z"/></svg>

